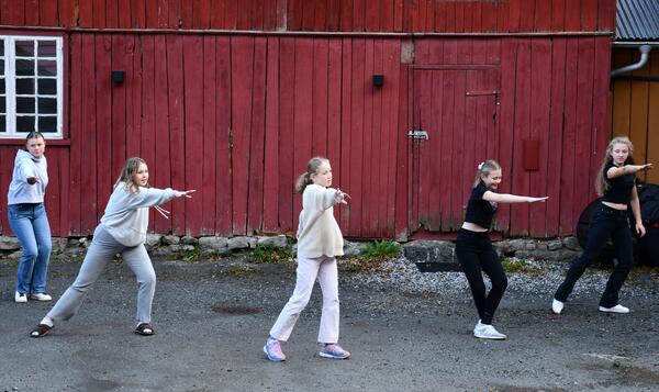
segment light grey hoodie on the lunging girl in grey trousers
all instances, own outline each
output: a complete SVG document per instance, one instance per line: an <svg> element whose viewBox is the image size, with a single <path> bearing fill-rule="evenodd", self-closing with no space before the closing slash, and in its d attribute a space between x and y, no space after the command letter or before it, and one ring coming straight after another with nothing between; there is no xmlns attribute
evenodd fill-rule
<svg viewBox="0 0 659 392"><path fill-rule="evenodd" d="M146 240L148 208L166 203L176 198L171 188L143 188L133 193L126 191L125 182L118 182L110 195L101 224L116 242L125 246L137 246Z"/></svg>

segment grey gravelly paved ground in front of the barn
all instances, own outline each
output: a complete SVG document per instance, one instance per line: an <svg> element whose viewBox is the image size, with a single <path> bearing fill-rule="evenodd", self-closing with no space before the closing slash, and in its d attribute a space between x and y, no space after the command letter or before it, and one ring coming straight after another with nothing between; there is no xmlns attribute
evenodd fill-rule
<svg viewBox="0 0 659 392"><path fill-rule="evenodd" d="M58 298L78 264L56 261ZM272 363L261 347L292 292L293 273L227 261L156 262L157 335L132 333L135 281L112 265L79 314L41 339L29 337L52 304L13 302L14 264L0 261L0 390L4 391L656 391L659 293L640 279L629 315L602 314L579 296L554 316L554 288L509 291L495 325L505 341L472 337L469 293L410 293L343 275L344 361L316 356L320 292ZM320 291L320 290L317 290ZM455 291L451 291L455 292ZM632 301L632 302L630 302Z"/></svg>

